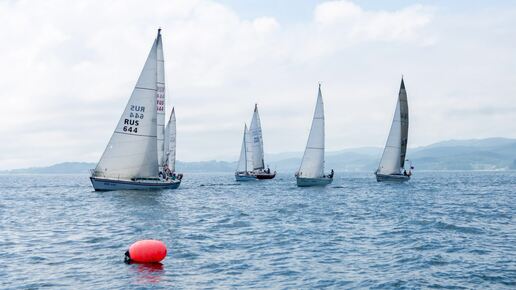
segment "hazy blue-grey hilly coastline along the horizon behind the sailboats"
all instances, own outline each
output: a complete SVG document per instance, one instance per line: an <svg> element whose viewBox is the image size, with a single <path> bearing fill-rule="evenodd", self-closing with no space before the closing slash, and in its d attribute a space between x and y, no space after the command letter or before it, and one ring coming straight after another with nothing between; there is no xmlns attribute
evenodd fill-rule
<svg viewBox="0 0 516 290"><path fill-rule="evenodd" d="M382 149L375 147L326 152L326 168L337 172L372 172L378 166L381 154ZM271 154L265 156L265 160L280 173L295 172L301 155L301 152ZM416 170L421 171L516 170L516 139L449 140L409 148L407 156ZM96 162L63 162L46 167L2 170L0 174L88 173L95 166ZM232 172L236 161L178 161L177 168L180 172Z"/></svg>

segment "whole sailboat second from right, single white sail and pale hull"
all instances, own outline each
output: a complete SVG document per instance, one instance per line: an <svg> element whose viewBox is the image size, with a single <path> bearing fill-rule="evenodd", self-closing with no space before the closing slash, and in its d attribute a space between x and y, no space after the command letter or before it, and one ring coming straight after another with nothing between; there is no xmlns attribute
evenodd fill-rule
<svg viewBox="0 0 516 290"><path fill-rule="evenodd" d="M325 186L333 181L333 169L330 174L324 174L324 104L321 84L319 84L312 127L301 166L296 173L296 181L299 187Z"/></svg>

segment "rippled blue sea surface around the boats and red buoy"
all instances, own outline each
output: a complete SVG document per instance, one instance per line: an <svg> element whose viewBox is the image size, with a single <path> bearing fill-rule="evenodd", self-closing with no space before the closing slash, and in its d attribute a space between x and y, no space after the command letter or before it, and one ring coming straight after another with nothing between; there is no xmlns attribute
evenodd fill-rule
<svg viewBox="0 0 516 290"><path fill-rule="evenodd" d="M516 288L516 172L337 174L94 192L86 175L0 176L0 288ZM162 265L128 246L163 240Z"/></svg>

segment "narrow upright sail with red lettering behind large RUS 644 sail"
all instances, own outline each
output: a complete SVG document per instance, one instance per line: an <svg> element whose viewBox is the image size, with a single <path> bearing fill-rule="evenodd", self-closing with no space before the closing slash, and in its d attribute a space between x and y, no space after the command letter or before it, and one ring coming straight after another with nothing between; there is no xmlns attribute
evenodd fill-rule
<svg viewBox="0 0 516 290"><path fill-rule="evenodd" d="M165 164L165 61L163 57L163 42L161 33L158 30L157 39L157 143L158 143L158 163L162 167Z"/></svg>

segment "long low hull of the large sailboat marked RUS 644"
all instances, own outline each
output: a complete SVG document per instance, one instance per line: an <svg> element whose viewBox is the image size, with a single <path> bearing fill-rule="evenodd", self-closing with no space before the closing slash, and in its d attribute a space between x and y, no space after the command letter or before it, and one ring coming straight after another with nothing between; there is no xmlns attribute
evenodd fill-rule
<svg viewBox="0 0 516 290"><path fill-rule="evenodd" d="M98 177L90 177L90 180L91 184L93 185L93 188L96 191L176 189L181 184L181 180L173 180L167 182L143 182Z"/></svg>

